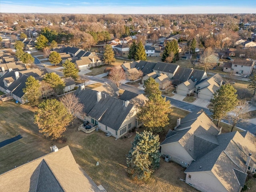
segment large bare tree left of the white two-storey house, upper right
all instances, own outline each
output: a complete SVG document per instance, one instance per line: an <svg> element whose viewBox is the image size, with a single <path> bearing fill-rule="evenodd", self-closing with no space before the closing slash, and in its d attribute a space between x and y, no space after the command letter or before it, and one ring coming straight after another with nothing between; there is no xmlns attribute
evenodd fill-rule
<svg viewBox="0 0 256 192"><path fill-rule="evenodd" d="M204 68L204 71L208 69L212 69L214 66L216 66L216 62L214 62L213 55L214 51L211 47L208 47L204 50L204 54L200 57L200 64L199 66Z"/></svg>

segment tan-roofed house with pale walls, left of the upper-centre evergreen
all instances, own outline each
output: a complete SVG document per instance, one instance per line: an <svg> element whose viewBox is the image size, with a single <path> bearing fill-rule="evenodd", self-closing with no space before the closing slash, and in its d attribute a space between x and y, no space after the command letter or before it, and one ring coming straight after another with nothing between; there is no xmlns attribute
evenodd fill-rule
<svg viewBox="0 0 256 192"><path fill-rule="evenodd" d="M104 62L98 56L81 57L75 61L78 70L88 69L90 67L103 65Z"/></svg>

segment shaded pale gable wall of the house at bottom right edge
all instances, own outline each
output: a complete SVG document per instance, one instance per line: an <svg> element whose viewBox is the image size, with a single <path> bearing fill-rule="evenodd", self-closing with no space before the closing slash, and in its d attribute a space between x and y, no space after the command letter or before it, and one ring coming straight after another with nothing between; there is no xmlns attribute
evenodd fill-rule
<svg viewBox="0 0 256 192"><path fill-rule="evenodd" d="M191 178L188 178L189 175ZM201 192L228 192L210 171L187 173L186 183Z"/></svg>

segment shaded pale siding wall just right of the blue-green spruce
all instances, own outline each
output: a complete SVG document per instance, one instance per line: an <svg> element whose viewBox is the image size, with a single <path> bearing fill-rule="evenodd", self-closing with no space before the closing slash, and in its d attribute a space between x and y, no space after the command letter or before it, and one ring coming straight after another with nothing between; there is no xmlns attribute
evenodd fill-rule
<svg viewBox="0 0 256 192"><path fill-rule="evenodd" d="M187 167L193 161L193 158L179 142L161 145L161 154L170 155L172 161L183 167Z"/></svg>

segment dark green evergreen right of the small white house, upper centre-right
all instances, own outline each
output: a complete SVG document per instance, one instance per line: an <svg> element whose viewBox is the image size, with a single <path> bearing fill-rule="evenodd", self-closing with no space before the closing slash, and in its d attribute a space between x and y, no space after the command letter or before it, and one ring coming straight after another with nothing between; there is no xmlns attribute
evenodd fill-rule
<svg viewBox="0 0 256 192"><path fill-rule="evenodd" d="M172 62L176 62L179 58L179 46L178 42L176 40L171 40L166 43L166 46L164 48L164 52L162 54L162 61L166 61L166 58L168 58L170 53L173 53L175 57L173 58Z"/></svg>

